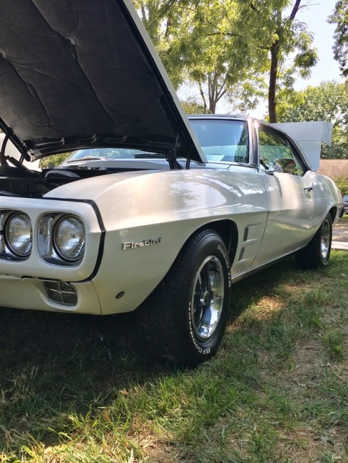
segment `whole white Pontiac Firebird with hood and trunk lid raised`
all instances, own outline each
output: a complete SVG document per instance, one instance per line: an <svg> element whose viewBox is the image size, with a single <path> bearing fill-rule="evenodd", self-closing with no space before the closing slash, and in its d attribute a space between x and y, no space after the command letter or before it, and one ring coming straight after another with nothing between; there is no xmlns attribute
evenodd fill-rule
<svg viewBox="0 0 348 463"><path fill-rule="evenodd" d="M291 254L327 265L343 212L315 174L328 124L188 119L130 0L0 13L2 307L137 309L149 350L194 366L219 347L233 282Z"/></svg>

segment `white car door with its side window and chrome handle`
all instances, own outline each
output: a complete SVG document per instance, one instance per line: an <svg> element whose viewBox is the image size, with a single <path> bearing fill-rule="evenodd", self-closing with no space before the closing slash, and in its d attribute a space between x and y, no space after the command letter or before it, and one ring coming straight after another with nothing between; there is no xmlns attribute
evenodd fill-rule
<svg viewBox="0 0 348 463"><path fill-rule="evenodd" d="M315 173L284 133L260 124L258 154L269 202L269 215L257 264L289 254L311 236Z"/></svg>

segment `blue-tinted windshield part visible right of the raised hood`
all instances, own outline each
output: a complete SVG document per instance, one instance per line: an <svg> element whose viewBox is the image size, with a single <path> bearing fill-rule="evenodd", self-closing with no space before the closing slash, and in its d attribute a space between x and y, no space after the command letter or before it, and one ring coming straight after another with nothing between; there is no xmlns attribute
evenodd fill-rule
<svg viewBox="0 0 348 463"><path fill-rule="evenodd" d="M248 124L228 119L191 119L200 146L210 162L249 162Z"/></svg>

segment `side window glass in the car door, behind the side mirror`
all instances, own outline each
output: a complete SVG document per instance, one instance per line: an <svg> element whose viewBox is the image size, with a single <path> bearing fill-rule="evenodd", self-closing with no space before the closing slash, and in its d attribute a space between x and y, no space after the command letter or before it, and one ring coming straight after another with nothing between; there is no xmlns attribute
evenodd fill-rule
<svg viewBox="0 0 348 463"><path fill-rule="evenodd" d="M285 137L260 127L260 167L292 175L303 175L305 169L299 156Z"/></svg>

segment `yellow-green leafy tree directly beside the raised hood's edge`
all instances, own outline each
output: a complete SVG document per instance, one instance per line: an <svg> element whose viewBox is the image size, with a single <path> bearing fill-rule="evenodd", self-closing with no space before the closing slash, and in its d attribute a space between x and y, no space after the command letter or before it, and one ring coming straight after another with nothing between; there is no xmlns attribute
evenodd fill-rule
<svg viewBox="0 0 348 463"><path fill-rule="evenodd" d="M196 85L205 111L215 113L237 84L253 79L258 57L237 31L238 0L134 3L174 86L187 80Z"/></svg>

